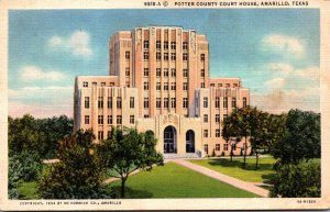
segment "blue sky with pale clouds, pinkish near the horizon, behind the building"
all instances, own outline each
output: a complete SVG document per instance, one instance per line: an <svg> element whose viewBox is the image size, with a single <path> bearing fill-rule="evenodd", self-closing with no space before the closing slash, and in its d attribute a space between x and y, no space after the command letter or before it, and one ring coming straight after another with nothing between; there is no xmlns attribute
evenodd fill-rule
<svg viewBox="0 0 330 212"><path fill-rule="evenodd" d="M111 34L178 25L206 34L210 71L240 77L252 104L270 112L319 112L317 9L12 10L9 114L73 115L77 75L108 75Z"/></svg>

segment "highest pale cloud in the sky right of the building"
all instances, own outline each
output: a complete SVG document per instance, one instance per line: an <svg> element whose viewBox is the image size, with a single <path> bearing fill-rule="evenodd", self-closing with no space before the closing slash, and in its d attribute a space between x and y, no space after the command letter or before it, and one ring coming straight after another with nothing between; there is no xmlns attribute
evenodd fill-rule
<svg viewBox="0 0 330 212"><path fill-rule="evenodd" d="M302 41L297 37L280 34L271 34L263 38L263 47L267 51L302 57L306 47Z"/></svg>

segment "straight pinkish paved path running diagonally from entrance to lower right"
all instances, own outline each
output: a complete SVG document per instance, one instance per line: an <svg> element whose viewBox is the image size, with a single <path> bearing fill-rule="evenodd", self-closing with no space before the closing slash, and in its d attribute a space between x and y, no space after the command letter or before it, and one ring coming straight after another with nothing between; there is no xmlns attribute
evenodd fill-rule
<svg viewBox="0 0 330 212"><path fill-rule="evenodd" d="M182 165L184 167L187 167L191 170L195 170L197 172L200 172L202 175L209 176L213 179L217 179L217 180L220 180L222 182L229 183L229 185L231 185L233 187L237 187L239 189L242 189L242 190L245 190L245 191L249 191L249 192L252 192L252 193L256 193L256 194L258 194L263 198L268 197L268 190L262 189L257 186L254 186L251 182L245 182L245 181L239 180L239 179L230 177L228 175L223 175L223 174L220 174L218 171L211 170L209 168L205 168L202 166L193 164L193 163L187 161L185 159L172 159L172 161L174 161L178 165Z"/></svg>

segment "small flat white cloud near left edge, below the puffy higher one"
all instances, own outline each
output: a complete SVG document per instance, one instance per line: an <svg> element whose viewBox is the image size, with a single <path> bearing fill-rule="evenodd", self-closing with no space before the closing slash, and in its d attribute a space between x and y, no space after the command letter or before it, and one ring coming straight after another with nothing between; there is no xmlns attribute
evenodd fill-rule
<svg viewBox="0 0 330 212"><path fill-rule="evenodd" d="M28 80L52 80L58 81L66 78L66 75L56 70L43 70L35 66L25 66L21 69L21 79Z"/></svg>

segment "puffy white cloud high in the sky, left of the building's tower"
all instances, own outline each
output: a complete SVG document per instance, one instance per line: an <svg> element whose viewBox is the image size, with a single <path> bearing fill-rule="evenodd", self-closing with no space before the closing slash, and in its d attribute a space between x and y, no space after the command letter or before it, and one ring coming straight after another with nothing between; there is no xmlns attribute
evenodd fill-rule
<svg viewBox="0 0 330 212"><path fill-rule="evenodd" d="M92 55L89 43L89 34L76 31L68 37L53 36L48 40L48 47L53 51L68 52L76 57L88 58Z"/></svg>

